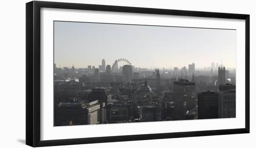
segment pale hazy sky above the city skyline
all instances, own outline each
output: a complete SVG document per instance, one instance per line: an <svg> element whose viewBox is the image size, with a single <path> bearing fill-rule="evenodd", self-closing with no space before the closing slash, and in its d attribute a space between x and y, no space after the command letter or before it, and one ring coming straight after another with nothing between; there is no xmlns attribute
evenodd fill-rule
<svg viewBox="0 0 256 148"><path fill-rule="evenodd" d="M120 58L135 67L236 67L236 30L54 22L54 63L98 67Z"/></svg>

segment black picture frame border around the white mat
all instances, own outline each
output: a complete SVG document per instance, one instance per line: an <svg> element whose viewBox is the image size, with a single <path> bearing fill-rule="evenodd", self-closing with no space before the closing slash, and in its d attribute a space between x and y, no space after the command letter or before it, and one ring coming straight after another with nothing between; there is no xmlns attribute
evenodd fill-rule
<svg viewBox="0 0 256 148"><path fill-rule="evenodd" d="M40 140L40 8L148 13L245 20L245 128L146 135ZM26 3L26 144L32 147L249 133L249 15L143 7L31 1Z"/></svg>

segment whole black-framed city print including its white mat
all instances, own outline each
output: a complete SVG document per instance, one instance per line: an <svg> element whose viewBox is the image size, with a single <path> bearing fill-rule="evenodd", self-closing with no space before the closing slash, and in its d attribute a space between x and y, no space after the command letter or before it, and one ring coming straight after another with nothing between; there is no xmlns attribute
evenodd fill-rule
<svg viewBox="0 0 256 148"><path fill-rule="evenodd" d="M31 1L32 147L249 133L249 15Z"/></svg>

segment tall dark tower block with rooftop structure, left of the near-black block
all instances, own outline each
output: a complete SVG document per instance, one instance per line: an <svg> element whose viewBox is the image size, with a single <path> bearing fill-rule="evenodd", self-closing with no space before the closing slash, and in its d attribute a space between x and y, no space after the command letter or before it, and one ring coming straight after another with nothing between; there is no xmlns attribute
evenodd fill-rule
<svg viewBox="0 0 256 148"><path fill-rule="evenodd" d="M174 120L184 119L187 110L196 106L195 102L195 83L185 79L174 81Z"/></svg>

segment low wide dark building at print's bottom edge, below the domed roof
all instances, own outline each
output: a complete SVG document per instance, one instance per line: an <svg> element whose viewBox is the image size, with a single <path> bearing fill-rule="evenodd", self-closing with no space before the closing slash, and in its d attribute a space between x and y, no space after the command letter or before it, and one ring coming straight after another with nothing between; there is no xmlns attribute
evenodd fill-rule
<svg viewBox="0 0 256 148"><path fill-rule="evenodd" d="M139 112L140 112L141 122L162 120L161 110L156 106L149 105L149 106L139 107Z"/></svg>

